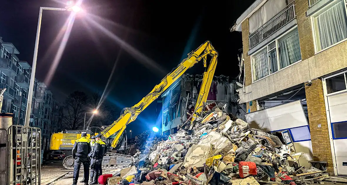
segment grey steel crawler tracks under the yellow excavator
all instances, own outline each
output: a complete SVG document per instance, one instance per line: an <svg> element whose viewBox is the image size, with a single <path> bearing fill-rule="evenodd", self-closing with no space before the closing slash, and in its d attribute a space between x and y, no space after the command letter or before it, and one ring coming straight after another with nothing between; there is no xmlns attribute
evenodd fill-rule
<svg viewBox="0 0 347 185"><path fill-rule="evenodd" d="M102 169L123 169L130 167L135 161L133 156L128 156L120 153L106 152L102 160ZM63 160L65 169L74 169L75 160L72 156L67 156ZM83 169L83 165L81 168Z"/></svg>

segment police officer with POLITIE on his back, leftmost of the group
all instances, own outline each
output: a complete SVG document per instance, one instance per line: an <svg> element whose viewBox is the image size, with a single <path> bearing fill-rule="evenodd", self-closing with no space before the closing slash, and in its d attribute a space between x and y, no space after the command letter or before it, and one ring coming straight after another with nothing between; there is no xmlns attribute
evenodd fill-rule
<svg viewBox="0 0 347 185"><path fill-rule="evenodd" d="M91 146L90 141L85 138L86 136L86 133L82 133L81 138L75 141L74 147L72 148L72 157L75 159L73 185L77 184L81 164L83 164L84 177L89 176L90 161L88 159L88 153L91 152ZM84 185L88 185L87 178L84 180Z"/></svg>

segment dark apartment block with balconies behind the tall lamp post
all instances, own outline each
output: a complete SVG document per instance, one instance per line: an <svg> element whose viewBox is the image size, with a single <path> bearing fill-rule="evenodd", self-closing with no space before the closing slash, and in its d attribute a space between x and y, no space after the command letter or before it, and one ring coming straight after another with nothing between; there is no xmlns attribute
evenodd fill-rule
<svg viewBox="0 0 347 185"><path fill-rule="evenodd" d="M31 66L20 61L17 54L16 47L0 37L0 88L6 88L1 112L13 113L13 124L24 125ZM62 107L54 100L52 91L35 79L30 126L41 129L42 150L49 150L53 132L62 131L61 117Z"/></svg>

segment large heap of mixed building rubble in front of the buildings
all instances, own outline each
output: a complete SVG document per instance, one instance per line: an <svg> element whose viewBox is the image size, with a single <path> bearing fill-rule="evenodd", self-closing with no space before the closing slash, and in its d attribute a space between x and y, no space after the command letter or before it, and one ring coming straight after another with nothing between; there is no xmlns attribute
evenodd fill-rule
<svg viewBox="0 0 347 185"><path fill-rule="evenodd" d="M298 165L303 154L277 136L250 129L225 106L208 108L176 134L147 140L134 166L122 169L119 183L142 185L259 185L307 183L328 178ZM309 179L309 180L307 180Z"/></svg>

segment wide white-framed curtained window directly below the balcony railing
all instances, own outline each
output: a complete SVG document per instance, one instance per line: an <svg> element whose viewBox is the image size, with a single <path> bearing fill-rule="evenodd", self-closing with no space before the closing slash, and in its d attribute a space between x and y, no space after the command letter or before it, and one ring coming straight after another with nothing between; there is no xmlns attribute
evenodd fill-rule
<svg viewBox="0 0 347 185"><path fill-rule="evenodd" d="M292 28L252 55L253 81L301 61L298 28Z"/></svg>

